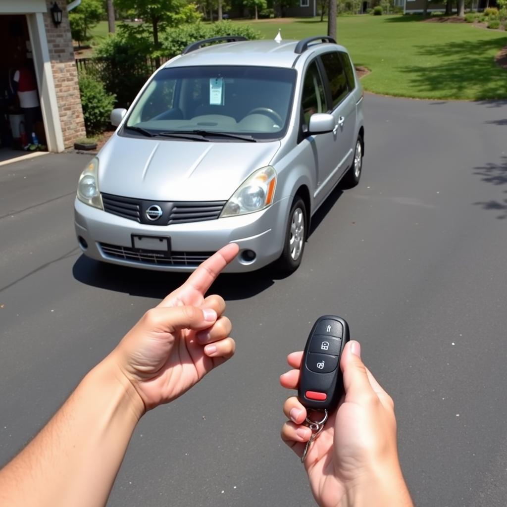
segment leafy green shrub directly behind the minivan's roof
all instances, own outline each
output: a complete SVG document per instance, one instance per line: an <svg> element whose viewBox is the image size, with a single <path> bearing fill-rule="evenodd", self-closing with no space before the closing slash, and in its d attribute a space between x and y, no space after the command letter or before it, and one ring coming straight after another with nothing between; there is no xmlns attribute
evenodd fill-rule
<svg viewBox="0 0 507 507"><path fill-rule="evenodd" d="M223 35L242 35L249 40L261 38L260 32L254 30L249 25L235 25L231 21L218 21L211 25L194 23L192 25L183 25L179 28L167 30L161 38L162 55L167 58L172 58L173 56L179 55L193 42Z"/></svg>

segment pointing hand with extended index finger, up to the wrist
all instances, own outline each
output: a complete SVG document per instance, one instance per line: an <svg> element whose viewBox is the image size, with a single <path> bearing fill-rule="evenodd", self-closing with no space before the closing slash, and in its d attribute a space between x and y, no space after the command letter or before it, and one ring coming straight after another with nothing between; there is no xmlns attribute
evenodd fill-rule
<svg viewBox="0 0 507 507"><path fill-rule="evenodd" d="M112 352L139 395L142 411L174 400L234 354L225 301L205 294L237 253L238 246L228 244L203 262L148 310Z"/></svg>

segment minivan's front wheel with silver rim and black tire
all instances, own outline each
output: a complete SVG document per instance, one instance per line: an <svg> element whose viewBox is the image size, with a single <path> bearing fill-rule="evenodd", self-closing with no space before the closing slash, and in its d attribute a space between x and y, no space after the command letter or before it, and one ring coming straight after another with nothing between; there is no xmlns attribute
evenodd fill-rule
<svg viewBox="0 0 507 507"><path fill-rule="evenodd" d="M284 273L296 271L303 259L307 226L306 213L303 199L296 196L288 214L283 251L277 263L277 267Z"/></svg>

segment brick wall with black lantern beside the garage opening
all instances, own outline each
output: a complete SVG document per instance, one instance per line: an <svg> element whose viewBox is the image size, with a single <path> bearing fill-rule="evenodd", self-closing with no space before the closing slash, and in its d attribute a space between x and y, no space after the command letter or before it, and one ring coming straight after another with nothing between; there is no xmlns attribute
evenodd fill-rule
<svg viewBox="0 0 507 507"><path fill-rule="evenodd" d="M53 69L56 99L63 132L65 147L72 146L78 137L83 137L85 122L81 108L81 97L79 95L78 71L74 58L72 37L65 0L57 0L62 9L62 22L55 26L51 17L51 7L54 0L46 0L48 6L44 14L44 24L48 38L49 57Z"/></svg>

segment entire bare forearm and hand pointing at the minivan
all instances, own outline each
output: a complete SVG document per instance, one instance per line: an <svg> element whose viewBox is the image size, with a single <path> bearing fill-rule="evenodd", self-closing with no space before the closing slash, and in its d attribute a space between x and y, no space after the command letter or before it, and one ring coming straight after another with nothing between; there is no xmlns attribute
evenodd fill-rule
<svg viewBox="0 0 507 507"><path fill-rule="evenodd" d="M105 505L144 412L180 396L234 353L224 300L204 294L237 251L227 245L203 263L86 375L0 470L2 506Z"/></svg>

